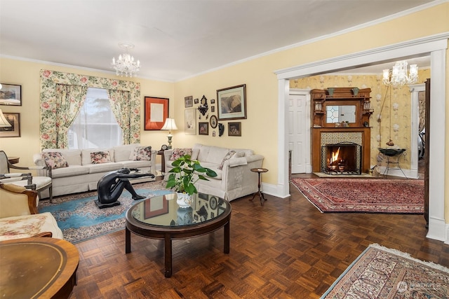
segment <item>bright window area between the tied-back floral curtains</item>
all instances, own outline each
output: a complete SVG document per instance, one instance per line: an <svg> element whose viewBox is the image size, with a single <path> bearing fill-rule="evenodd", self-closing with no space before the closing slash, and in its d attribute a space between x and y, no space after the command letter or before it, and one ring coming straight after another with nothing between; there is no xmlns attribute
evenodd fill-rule
<svg viewBox="0 0 449 299"><path fill-rule="evenodd" d="M88 88L86 101L68 131L70 149L111 148L122 144L107 90Z"/></svg>

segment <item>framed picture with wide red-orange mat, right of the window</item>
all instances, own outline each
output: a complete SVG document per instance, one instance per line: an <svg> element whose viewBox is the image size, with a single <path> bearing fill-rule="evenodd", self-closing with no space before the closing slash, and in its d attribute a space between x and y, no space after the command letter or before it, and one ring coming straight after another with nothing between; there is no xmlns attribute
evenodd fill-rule
<svg viewBox="0 0 449 299"><path fill-rule="evenodd" d="M145 97L145 131L161 130L168 118L168 99Z"/></svg>

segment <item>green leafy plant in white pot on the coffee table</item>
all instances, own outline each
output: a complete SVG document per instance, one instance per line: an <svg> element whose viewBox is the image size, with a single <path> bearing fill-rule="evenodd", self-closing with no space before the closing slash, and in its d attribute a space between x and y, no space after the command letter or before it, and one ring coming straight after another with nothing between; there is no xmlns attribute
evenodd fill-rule
<svg viewBox="0 0 449 299"><path fill-rule="evenodd" d="M169 171L170 176L168 176L166 188L173 189L178 193L177 202L180 207L189 207L192 203L192 195L198 193L194 185L196 181L200 179L209 181L206 176L217 176L217 173L212 169L202 167L198 160L191 160L190 155L177 158L171 165L174 167ZM206 174L206 176L203 174ZM184 202L180 203L181 200L184 200Z"/></svg>

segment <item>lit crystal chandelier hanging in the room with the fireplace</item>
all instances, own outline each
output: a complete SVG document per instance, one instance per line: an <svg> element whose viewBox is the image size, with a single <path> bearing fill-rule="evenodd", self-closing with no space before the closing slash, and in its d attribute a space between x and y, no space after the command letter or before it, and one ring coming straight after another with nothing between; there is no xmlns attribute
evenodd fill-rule
<svg viewBox="0 0 449 299"><path fill-rule="evenodd" d="M418 66L417 64L410 64L410 72L407 74L407 61L401 60L394 64L393 69L384 69L384 76L382 83L384 85L393 85L394 87L413 84L418 80Z"/></svg>

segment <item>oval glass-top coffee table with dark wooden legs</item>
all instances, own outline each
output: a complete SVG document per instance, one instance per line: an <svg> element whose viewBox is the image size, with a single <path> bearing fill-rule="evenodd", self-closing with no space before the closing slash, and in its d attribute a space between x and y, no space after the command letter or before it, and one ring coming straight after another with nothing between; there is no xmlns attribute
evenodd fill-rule
<svg viewBox="0 0 449 299"><path fill-rule="evenodd" d="M172 274L172 239L186 239L224 228L225 253L229 253L231 204L213 195L194 195L191 207L181 208L176 193L142 200L126 212L125 252L131 252L131 232L141 237L163 239L165 277Z"/></svg>

